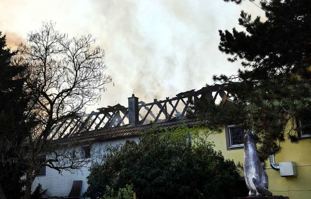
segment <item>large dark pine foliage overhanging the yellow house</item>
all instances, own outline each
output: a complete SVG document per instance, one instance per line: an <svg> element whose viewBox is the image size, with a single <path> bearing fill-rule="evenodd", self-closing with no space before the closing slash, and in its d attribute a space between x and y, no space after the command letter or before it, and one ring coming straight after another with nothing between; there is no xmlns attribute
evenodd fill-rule
<svg viewBox="0 0 311 199"><path fill-rule="evenodd" d="M244 31L219 31L219 50L230 55L230 62L242 61L237 75L213 77L235 106L205 103L201 111L208 112L202 115L211 122L232 122L254 131L263 161L281 150L280 142L296 143L301 131L311 133L311 2L262 0L260 6L266 19L252 19L242 11L239 24Z"/></svg>

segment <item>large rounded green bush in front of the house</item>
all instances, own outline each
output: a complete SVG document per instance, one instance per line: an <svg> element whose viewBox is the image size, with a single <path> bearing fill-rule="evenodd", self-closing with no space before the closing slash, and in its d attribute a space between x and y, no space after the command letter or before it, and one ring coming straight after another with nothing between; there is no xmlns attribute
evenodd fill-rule
<svg viewBox="0 0 311 199"><path fill-rule="evenodd" d="M107 186L119 190L132 184L138 199L232 198L238 170L213 149L207 135L178 127L110 146L103 163L89 169L84 196L103 198Z"/></svg>

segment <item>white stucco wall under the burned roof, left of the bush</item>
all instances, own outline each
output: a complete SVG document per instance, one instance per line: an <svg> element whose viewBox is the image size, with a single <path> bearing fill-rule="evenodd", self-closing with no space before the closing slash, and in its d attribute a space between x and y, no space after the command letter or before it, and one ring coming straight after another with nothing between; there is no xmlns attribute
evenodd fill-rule
<svg viewBox="0 0 311 199"><path fill-rule="evenodd" d="M138 142L138 138L132 138L131 140L135 140ZM124 144L125 140L114 140L109 142L102 142L102 143L94 143L91 145L91 150L98 151L97 148L101 147L104 148L106 145L117 145L117 144ZM100 162L100 158L102 154L94 154L93 161ZM68 196L71 190L72 182L73 181L80 181L82 180L82 193L86 191L87 182L86 177L89 175L88 168L91 163L88 163L86 168L82 168L81 171L77 171L76 173L72 174L69 171L63 171L62 174L59 174L58 171L46 167L46 175L44 176L37 176L33 183L32 190L35 190L35 187L40 183L43 189L48 189L46 196Z"/></svg>

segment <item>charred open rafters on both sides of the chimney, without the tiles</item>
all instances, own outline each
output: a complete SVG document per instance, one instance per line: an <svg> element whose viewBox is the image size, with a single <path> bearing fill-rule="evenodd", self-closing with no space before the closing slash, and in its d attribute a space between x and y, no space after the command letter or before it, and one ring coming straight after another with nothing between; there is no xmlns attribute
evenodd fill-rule
<svg viewBox="0 0 311 199"><path fill-rule="evenodd" d="M155 99L154 102L148 104L140 101L137 108L140 121L137 124L145 124L144 122L147 118L153 123L160 123L164 120L169 121L175 117L185 116L191 100L195 102L199 98L206 98L215 102L218 95L224 100L228 94L224 90L226 90L226 86L224 85L213 85L197 91L189 90L181 92L173 98L167 97L161 101ZM215 93L214 96L213 93ZM57 131L61 131L58 134L59 137L79 136L86 131L129 124L129 109L120 104L97 110L63 122L62 127L55 128Z"/></svg>

